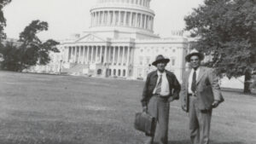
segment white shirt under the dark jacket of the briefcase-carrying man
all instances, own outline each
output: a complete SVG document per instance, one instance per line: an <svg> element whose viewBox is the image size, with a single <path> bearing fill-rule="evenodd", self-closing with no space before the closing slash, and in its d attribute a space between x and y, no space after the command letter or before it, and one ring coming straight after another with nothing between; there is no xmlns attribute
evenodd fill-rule
<svg viewBox="0 0 256 144"><path fill-rule="evenodd" d="M155 84L155 88L157 86L157 84L159 83L160 81L160 75L162 75L162 84L161 84L161 91L160 91L160 95L161 96L168 96L170 94L170 88L169 88L169 82L167 80L167 77L166 77L166 72L159 72L157 71L157 75L158 75L158 78L157 78L157 82ZM155 94L155 89L153 90L153 94Z"/></svg>

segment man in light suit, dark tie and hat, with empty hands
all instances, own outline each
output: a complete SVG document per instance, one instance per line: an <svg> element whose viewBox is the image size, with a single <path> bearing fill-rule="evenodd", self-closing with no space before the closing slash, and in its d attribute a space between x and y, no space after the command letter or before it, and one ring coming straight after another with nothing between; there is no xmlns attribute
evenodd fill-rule
<svg viewBox="0 0 256 144"><path fill-rule="evenodd" d="M218 77L212 68L201 66L204 55L193 49L185 57L190 70L184 72L181 101L189 112L190 139L193 144L208 144L212 108L224 101L218 85Z"/></svg>

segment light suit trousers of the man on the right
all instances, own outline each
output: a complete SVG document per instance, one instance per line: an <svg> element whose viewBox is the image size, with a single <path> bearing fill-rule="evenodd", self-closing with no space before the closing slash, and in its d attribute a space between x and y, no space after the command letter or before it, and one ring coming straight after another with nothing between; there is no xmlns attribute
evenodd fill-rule
<svg viewBox="0 0 256 144"><path fill-rule="evenodd" d="M196 97L189 96L189 129L193 144L208 144L212 109L201 111L196 107Z"/></svg>

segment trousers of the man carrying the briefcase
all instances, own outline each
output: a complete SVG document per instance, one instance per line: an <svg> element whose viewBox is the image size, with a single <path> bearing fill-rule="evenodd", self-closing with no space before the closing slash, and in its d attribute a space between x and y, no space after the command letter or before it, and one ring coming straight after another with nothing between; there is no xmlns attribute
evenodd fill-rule
<svg viewBox="0 0 256 144"><path fill-rule="evenodd" d="M168 120L170 104L167 98L153 96L148 102L148 113L157 119L153 137L149 137L147 144L168 143Z"/></svg>

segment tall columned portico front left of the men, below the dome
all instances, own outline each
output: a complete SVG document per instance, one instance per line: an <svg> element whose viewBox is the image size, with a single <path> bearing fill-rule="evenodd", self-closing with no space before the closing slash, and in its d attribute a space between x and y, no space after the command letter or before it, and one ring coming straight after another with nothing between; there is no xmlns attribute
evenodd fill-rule
<svg viewBox="0 0 256 144"><path fill-rule="evenodd" d="M68 44L65 61L72 68L82 68L94 71L97 75L116 76L126 78L128 76L129 58L131 47L128 45L113 44ZM64 61L64 62L65 62ZM86 71L85 71L86 72Z"/></svg>

